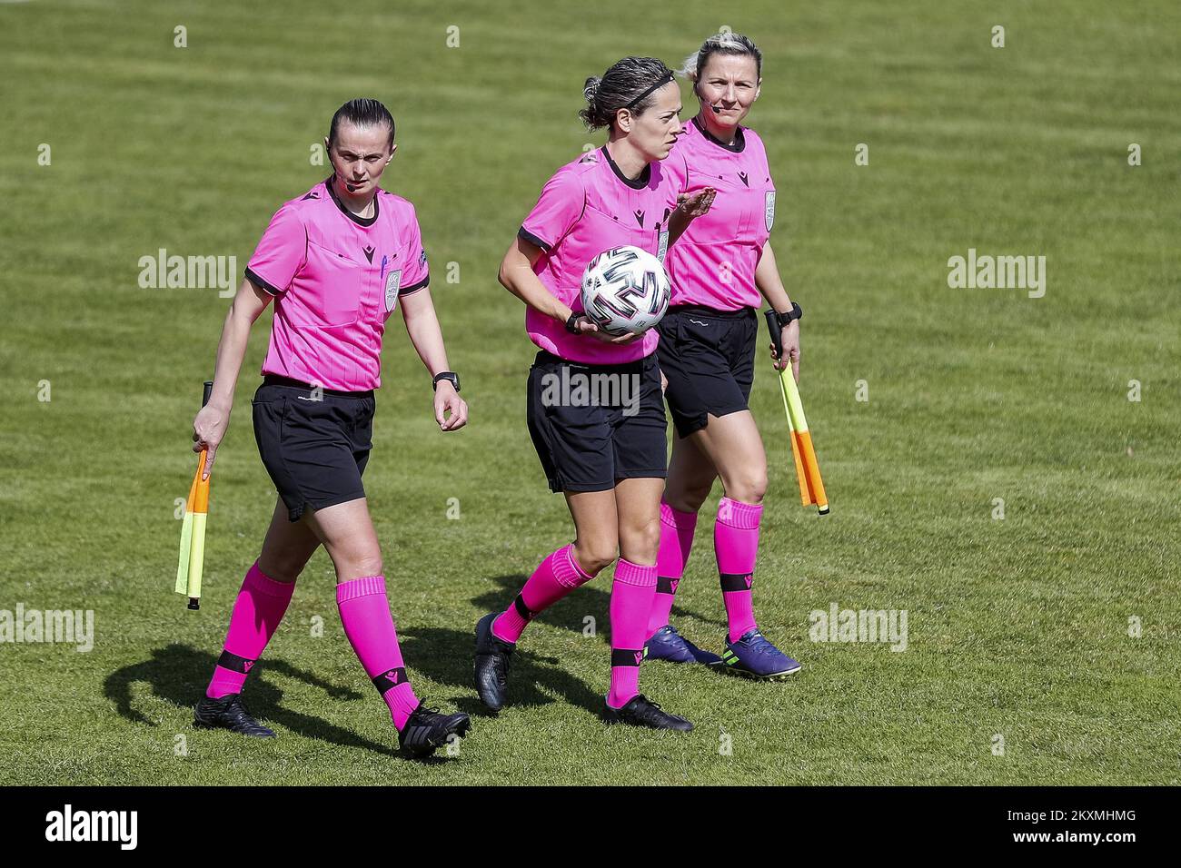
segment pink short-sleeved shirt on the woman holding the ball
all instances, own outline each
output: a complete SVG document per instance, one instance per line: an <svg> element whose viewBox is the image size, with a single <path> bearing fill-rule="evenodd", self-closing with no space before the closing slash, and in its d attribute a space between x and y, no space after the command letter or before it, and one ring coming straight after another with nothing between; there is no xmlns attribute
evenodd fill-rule
<svg viewBox="0 0 1181 868"><path fill-rule="evenodd" d="M582 272L603 250L631 244L664 261L677 191L661 163L650 163L632 181L606 148L563 165L521 224L521 237L543 250L534 273L549 292L581 313ZM659 340L657 331L650 328L631 344L605 344L586 334L570 334L565 324L531 307L524 324L529 339L542 350L589 365L642 359Z"/></svg>

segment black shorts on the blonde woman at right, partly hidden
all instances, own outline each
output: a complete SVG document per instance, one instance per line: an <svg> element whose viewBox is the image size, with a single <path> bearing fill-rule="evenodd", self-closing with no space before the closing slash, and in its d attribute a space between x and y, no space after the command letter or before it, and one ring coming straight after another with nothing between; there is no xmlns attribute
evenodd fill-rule
<svg viewBox="0 0 1181 868"><path fill-rule="evenodd" d="M710 413L748 409L758 342L755 308L670 307L657 329L660 370L668 379L665 400L679 436L700 431Z"/></svg>

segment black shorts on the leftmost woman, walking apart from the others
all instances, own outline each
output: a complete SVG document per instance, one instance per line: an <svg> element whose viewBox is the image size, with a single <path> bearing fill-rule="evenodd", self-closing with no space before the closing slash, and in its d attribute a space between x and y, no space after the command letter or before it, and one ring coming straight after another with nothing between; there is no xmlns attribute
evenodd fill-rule
<svg viewBox="0 0 1181 868"><path fill-rule="evenodd" d="M373 448L373 392L324 390L267 376L250 402L259 455L295 522L365 496L361 474Z"/></svg>

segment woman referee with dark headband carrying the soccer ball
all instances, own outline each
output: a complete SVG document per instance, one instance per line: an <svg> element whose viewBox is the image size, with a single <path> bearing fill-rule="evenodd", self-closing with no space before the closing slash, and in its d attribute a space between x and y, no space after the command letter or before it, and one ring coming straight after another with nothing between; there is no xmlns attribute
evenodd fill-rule
<svg viewBox="0 0 1181 868"><path fill-rule="evenodd" d="M528 622L615 563L611 592L608 723L690 730L639 692L644 629L655 593L659 503L666 471L664 404L654 331L612 338L582 313L587 262L631 244L663 259L709 192L679 203L660 161L681 133L680 90L654 58L624 58L589 78L582 119L608 128L607 144L546 183L501 263L500 280L527 305L539 352L529 371L528 420L552 491L562 491L575 540L534 570L503 612L476 626L476 690L492 711L505 704L509 659ZM614 378L614 397L578 399L552 389ZM625 405L624 386L634 402ZM575 385L574 389L578 386ZM556 396L555 396L555 392ZM618 561L616 561L618 559Z"/></svg>

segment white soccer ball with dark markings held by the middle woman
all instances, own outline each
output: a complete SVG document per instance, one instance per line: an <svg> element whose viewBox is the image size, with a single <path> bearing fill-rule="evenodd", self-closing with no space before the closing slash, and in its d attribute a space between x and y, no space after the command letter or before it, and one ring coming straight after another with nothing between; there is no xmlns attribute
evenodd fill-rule
<svg viewBox="0 0 1181 868"><path fill-rule="evenodd" d="M638 247L603 250L582 274L582 309L608 334L644 334L668 309L668 275Z"/></svg>

